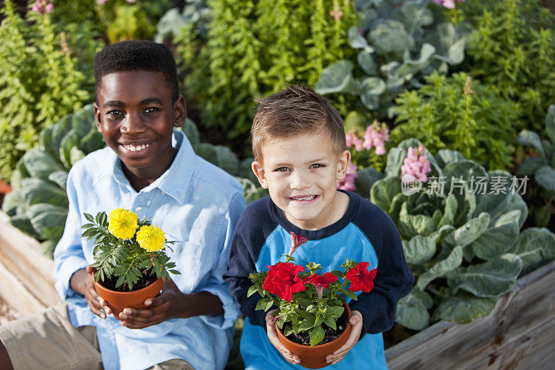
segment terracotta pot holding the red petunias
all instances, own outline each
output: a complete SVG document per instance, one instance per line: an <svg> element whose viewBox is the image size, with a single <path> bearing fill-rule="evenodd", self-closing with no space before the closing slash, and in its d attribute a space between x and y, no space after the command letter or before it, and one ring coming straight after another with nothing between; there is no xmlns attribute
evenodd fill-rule
<svg viewBox="0 0 555 370"><path fill-rule="evenodd" d="M329 355L330 353L334 353L337 351L345 342L347 342L347 338L351 332L351 324L349 319L351 318L351 310L349 305L346 303L343 305L345 310L343 311L343 317L347 320L347 326L345 326L345 330L343 333L339 335L336 339L332 340L332 342L327 342L325 344L318 344L316 346L305 346L303 344L295 343L287 337L285 337L278 328L275 326L275 329L278 331L278 337L280 338L280 342L292 353L299 355L300 357L300 365L306 367L308 369L321 369L322 367L326 367L329 365L325 362L325 356Z"/></svg>

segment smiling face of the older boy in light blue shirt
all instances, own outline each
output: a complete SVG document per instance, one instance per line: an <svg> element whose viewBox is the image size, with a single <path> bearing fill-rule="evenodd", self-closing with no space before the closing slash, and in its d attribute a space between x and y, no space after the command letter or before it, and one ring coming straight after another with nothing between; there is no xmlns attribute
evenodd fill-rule
<svg viewBox="0 0 555 370"><path fill-rule="evenodd" d="M106 144L131 174L148 183L160 177L173 161L173 126L187 117L182 96L173 103L164 74L147 71L107 74L96 96L96 128Z"/></svg>

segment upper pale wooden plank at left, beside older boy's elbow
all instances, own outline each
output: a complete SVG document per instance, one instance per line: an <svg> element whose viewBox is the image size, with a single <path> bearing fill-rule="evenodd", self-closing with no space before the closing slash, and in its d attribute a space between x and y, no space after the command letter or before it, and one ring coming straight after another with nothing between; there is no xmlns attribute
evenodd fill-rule
<svg viewBox="0 0 555 370"><path fill-rule="evenodd" d="M40 250L40 243L9 224L0 212L0 261L29 292L48 307L60 301L54 288L54 262Z"/></svg>

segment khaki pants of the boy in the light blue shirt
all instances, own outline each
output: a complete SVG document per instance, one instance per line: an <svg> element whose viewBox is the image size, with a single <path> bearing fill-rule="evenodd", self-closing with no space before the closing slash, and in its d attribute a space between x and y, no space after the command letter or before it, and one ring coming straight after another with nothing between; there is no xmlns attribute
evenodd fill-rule
<svg viewBox="0 0 555 370"><path fill-rule="evenodd" d="M103 369L94 326L74 328L67 303L0 326L0 341L15 370ZM152 370L194 370L185 360L169 360Z"/></svg>

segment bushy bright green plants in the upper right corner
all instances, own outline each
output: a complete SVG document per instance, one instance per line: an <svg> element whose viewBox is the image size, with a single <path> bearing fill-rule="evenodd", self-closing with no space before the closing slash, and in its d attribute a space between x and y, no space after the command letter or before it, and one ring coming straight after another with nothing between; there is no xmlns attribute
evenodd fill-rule
<svg viewBox="0 0 555 370"><path fill-rule="evenodd" d="M518 102L519 128L541 131L555 101L554 16L538 0L467 0L458 7L475 28L464 69Z"/></svg>

